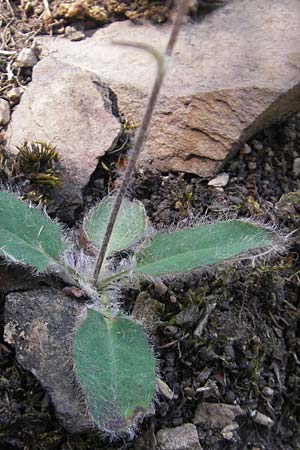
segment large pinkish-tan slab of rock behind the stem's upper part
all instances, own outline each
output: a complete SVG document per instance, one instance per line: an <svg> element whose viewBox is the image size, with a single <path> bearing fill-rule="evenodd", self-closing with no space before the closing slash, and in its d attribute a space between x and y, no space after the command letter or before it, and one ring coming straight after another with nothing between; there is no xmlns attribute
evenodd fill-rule
<svg viewBox="0 0 300 450"><path fill-rule="evenodd" d="M125 117L140 123L154 62L144 51L112 46L111 39L163 50L170 27L124 21L81 42L50 36L39 42L45 54L96 72ZM185 24L142 161L212 176L258 130L299 110L299 40L298 0L235 0L201 23Z"/></svg>

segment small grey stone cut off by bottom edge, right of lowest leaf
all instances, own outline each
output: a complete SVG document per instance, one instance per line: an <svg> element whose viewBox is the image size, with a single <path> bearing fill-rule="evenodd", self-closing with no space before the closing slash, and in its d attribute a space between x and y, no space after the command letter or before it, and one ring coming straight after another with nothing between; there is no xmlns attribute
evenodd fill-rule
<svg viewBox="0 0 300 450"><path fill-rule="evenodd" d="M164 428L157 433L156 439L159 450L202 450L197 428L192 423Z"/></svg>

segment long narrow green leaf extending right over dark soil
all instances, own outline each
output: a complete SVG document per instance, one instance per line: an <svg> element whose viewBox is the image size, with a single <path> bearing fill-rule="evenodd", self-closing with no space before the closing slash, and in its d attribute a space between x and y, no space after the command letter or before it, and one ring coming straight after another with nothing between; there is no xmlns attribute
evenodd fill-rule
<svg viewBox="0 0 300 450"><path fill-rule="evenodd" d="M134 272L146 275L188 272L250 250L272 247L275 233L241 220L157 234L137 254ZM250 253L249 253L250 254Z"/></svg>

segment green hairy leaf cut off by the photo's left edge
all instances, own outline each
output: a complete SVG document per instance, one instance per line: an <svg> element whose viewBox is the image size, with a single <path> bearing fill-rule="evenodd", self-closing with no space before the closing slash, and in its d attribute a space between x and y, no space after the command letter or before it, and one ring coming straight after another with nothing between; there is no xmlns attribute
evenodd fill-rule
<svg viewBox="0 0 300 450"><path fill-rule="evenodd" d="M61 228L15 195L0 192L0 254L41 271L64 250Z"/></svg>

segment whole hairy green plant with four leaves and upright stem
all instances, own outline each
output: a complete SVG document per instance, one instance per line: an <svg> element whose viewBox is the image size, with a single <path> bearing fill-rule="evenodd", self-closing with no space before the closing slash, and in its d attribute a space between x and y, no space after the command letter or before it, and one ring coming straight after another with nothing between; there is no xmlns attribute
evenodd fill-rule
<svg viewBox="0 0 300 450"><path fill-rule="evenodd" d="M167 55L174 46L183 7L181 2ZM244 220L153 232L149 237L142 203L129 200L125 193L164 75L164 59L150 51L158 60L158 77L123 182L116 196L104 199L85 217L79 243L70 242L62 227L43 211L12 193L0 192L0 254L37 272L54 271L93 300L94 306L86 307L74 330L73 366L93 424L111 434L129 432L147 414L155 395L156 372L142 325L120 310L115 312L111 286L132 278L170 278L237 257L271 252L283 241L276 231ZM114 256L124 251L133 257L116 267ZM85 264L80 266L82 254Z"/></svg>

